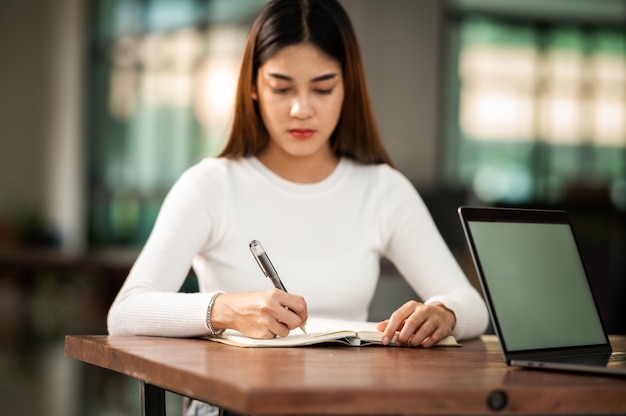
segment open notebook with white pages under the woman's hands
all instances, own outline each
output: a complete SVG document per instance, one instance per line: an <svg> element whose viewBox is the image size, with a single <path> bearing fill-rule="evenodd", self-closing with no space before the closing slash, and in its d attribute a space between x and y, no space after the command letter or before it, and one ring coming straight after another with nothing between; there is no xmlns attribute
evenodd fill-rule
<svg viewBox="0 0 626 416"><path fill-rule="evenodd" d="M382 345L383 333L376 329L376 322L345 321L310 317L306 324L307 334L298 328L286 337L254 339L227 329L219 336L206 336L204 339L237 347L299 347L323 343L336 343L348 346ZM459 346L454 337L439 341L437 346Z"/></svg>

